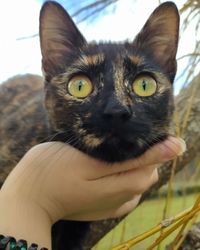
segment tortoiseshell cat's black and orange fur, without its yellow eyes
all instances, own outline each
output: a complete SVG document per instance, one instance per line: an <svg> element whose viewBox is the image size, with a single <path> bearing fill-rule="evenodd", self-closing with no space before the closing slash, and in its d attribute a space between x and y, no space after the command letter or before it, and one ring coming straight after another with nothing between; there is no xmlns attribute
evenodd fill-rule
<svg viewBox="0 0 200 250"><path fill-rule="evenodd" d="M131 32L133 24L128 25ZM178 30L177 8L166 2L133 42L90 44L59 4L46 2L40 14L45 96L37 76L0 86L0 181L41 141L60 140L112 163L137 157L165 139L173 112ZM67 91L70 79L80 74L93 84L82 99ZM140 97L130 88L142 74L156 80L152 96ZM58 222L53 249L81 249L88 225Z"/></svg>

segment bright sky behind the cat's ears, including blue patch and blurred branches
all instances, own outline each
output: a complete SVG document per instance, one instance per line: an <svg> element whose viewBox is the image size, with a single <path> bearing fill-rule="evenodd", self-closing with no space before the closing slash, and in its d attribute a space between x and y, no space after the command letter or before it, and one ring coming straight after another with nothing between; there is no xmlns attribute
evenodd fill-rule
<svg viewBox="0 0 200 250"><path fill-rule="evenodd" d="M0 82L17 75L41 75L39 46L39 12L43 0L0 0ZM133 40L151 12L164 1L158 0L58 0L73 16L88 41ZM174 1L181 10L181 37L178 50L177 94L186 84L186 67L199 41L199 16L193 13L186 23L190 8L186 0ZM192 1L188 1L192 2ZM198 4L198 1L193 1ZM194 4L193 3L193 4ZM192 4L192 5L193 5ZM190 63L191 64L191 63ZM188 72L188 71L187 71ZM192 77L197 70L192 72Z"/></svg>

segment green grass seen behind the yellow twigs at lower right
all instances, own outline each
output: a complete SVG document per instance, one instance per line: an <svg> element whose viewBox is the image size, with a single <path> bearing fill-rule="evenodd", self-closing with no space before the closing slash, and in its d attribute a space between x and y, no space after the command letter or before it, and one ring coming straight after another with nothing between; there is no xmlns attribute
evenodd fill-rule
<svg viewBox="0 0 200 250"><path fill-rule="evenodd" d="M195 202L195 199L196 199L196 195L175 197L173 199L171 216L192 206ZM94 247L93 249L94 250L108 250L112 246L115 246L128 239L131 239L141 233L144 233L150 228L154 227L162 220L164 204L165 204L165 199L163 198L153 199L153 200L151 199L151 200L145 201L140 207L135 209L131 214L129 214L126 217L124 232L123 232L124 221L122 221L114 230L112 230L109 234L107 234L98 243L98 245ZM176 235L176 232L171 234L165 241L163 241L161 245L161 249L164 249L164 246L169 244L173 240L175 235ZM144 250L158 236L159 234L155 234L149 239L137 244L132 249Z"/></svg>

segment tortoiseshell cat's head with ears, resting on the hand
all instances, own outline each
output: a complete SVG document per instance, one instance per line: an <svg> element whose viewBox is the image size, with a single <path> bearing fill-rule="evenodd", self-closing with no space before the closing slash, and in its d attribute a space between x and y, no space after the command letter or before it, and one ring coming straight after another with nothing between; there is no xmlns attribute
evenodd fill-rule
<svg viewBox="0 0 200 250"><path fill-rule="evenodd" d="M166 138L178 31L178 10L165 2L132 42L88 43L62 6L46 2L40 42L56 139L114 162Z"/></svg>

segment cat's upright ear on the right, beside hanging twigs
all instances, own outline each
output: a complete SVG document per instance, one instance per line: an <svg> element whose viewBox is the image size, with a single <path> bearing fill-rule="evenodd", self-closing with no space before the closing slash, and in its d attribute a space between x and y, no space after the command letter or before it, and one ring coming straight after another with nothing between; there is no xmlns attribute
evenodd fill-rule
<svg viewBox="0 0 200 250"><path fill-rule="evenodd" d="M156 61L173 81L179 36L179 13L173 2L161 4L151 14L134 43L136 48Z"/></svg>

